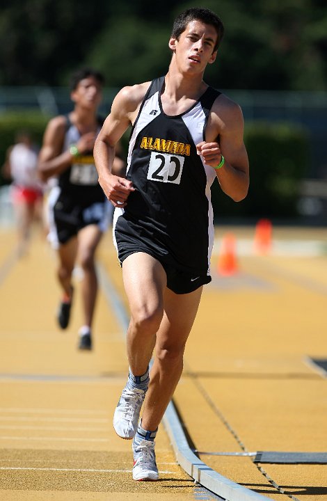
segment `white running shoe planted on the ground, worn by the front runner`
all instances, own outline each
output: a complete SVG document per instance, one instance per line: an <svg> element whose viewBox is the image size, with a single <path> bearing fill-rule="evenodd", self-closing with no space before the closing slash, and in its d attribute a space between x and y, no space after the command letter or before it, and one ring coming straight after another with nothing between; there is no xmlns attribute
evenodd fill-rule
<svg viewBox="0 0 327 501"><path fill-rule="evenodd" d="M133 479L139 482L158 480L159 472L154 452L154 441L134 436L132 448L134 455Z"/></svg>

